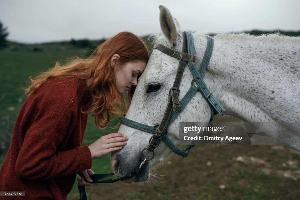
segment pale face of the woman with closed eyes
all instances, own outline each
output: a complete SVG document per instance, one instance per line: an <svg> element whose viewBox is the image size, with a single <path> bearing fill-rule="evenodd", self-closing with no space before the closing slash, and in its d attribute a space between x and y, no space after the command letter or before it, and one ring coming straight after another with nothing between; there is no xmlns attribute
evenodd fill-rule
<svg viewBox="0 0 300 200"><path fill-rule="evenodd" d="M132 61L116 68L115 85L119 94L124 94L131 88L131 85L137 85L137 76L144 71L146 64L144 61Z"/></svg>

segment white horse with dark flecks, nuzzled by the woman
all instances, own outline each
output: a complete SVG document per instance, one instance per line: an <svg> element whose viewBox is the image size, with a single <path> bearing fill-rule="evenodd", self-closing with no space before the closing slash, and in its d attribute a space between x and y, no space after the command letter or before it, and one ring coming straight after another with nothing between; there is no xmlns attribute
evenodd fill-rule
<svg viewBox="0 0 300 200"><path fill-rule="evenodd" d="M155 36L156 43L181 52L183 36L179 23L164 7L160 8L160 24L164 36ZM226 109L226 114L252 122L298 122L300 118L300 38L277 34L250 36L248 34L217 34L205 72L204 82L214 97ZM196 66L202 61L207 38L193 33ZM165 112L168 94L176 76L179 60L154 49L147 67L140 77L126 118L142 124L159 124ZM180 84L179 100L190 88L193 79L185 67ZM197 92L176 120L168 127L168 136L179 145L179 122L209 121L208 103ZM113 172L121 177L131 174L139 164L141 151L149 145L152 136L125 125L119 133L129 137L127 145L113 152ZM300 133L292 133L300 152ZM288 144L287 144L288 145ZM146 181L149 169L163 163L172 151L164 142L155 149L153 160L127 182Z"/></svg>

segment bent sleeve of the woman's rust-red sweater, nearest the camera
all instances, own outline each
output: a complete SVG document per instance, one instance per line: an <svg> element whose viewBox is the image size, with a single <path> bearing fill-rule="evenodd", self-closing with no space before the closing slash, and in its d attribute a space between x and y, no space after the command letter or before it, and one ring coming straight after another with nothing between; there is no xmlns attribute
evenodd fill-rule
<svg viewBox="0 0 300 200"><path fill-rule="evenodd" d="M28 109L38 109L38 114L26 131L16 160L16 174L19 177L46 180L91 168L88 146L74 147L68 151L56 150L66 132L72 130L76 119L74 108L78 105L75 94L70 94L50 89L38 100L33 98L32 102L39 103L32 103ZM26 113L23 118L26 120Z"/></svg>

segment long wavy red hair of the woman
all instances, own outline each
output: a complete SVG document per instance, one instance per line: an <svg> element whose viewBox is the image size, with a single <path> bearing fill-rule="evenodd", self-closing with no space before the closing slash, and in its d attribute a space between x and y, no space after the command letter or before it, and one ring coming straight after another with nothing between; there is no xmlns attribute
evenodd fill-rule
<svg viewBox="0 0 300 200"><path fill-rule="evenodd" d="M114 54L119 54L120 58L112 65L110 60ZM110 114L125 115L126 111L124 95L119 94L113 84L116 81L116 67L137 60L148 62L148 59L149 51L145 43L131 32L121 32L98 46L86 59L76 58L64 66L56 62L54 68L39 74L35 79L29 77L32 84L25 93L34 93L52 78L92 78L89 89L93 101L91 105L86 106L87 109L81 108L81 112L84 114L94 112L92 116L96 126L104 128L111 121ZM129 100L132 94L132 91L128 92Z"/></svg>

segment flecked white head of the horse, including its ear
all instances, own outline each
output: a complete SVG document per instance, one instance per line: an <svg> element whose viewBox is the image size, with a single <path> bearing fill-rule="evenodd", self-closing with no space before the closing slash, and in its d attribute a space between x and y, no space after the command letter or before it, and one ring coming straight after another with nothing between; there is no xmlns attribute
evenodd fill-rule
<svg viewBox="0 0 300 200"><path fill-rule="evenodd" d="M183 35L178 21L171 15L170 11L159 6L160 9L160 26L163 36L156 35L156 43L160 43L168 48L176 51L182 51ZM196 66L199 66L202 55L205 51L206 38L195 41L195 46L203 47L204 49L196 49ZM201 57L201 58L200 58ZM158 49L154 49L149 62L139 79L139 84L134 92L131 105L127 112L126 118L155 126L160 124L164 116L166 105L168 102L168 94L170 88L173 87L174 79L179 66L179 60L173 58ZM190 70L185 68L179 86L179 100L191 86L193 79ZM170 140L175 145L179 145L179 122L181 121L209 121L211 109L208 103L203 100L200 93L196 93L167 128L167 134ZM133 173L137 168L141 159L141 152L149 145L149 139L152 134L121 125L119 133L124 133L128 136L127 145L119 151L113 152L111 155L111 164L113 172L118 176L127 176ZM146 161L137 174L124 182L140 182L146 181L149 178L149 169L153 166L158 166L168 160L172 151L164 142L155 149L155 157L152 160Z"/></svg>

